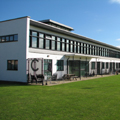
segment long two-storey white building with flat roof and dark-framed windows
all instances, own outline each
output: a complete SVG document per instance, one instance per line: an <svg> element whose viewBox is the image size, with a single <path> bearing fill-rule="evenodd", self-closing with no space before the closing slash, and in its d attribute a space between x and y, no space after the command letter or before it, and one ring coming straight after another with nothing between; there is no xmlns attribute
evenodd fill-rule
<svg viewBox="0 0 120 120"><path fill-rule="evenodd" d="M0 80L27 82L27 74L89 76L120 69L120 49L52 20L21 17L0 22ZM47 77L45 77L47 78Z"/></svg>

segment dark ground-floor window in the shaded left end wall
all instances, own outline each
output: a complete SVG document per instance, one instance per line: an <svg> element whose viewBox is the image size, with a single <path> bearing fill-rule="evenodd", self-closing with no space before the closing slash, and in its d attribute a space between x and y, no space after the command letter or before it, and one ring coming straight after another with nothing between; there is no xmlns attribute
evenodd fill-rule
<svg viewBox="0 0 120 120"><path fill-rule="evenodd" d="M8 60L7 70L18 70L18 60Z"/></svg>

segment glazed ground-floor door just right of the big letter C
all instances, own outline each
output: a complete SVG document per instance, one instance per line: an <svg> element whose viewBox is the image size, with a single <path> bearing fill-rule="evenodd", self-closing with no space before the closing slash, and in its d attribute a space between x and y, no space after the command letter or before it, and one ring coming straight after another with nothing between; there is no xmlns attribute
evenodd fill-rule
<svg viewBox="0 0 120 120"><path fill-rule="evenodd" d="M47 77L52 76L52 60L44 59L44 75Z"/></svg>

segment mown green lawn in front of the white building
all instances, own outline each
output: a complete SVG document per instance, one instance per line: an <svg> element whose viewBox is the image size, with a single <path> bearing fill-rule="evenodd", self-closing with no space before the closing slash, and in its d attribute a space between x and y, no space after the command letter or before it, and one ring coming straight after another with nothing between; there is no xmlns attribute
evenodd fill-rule
<svg viewBox="0 0 120 120"><path fill-rule="evenodd" d="M119 120L120 75L56 86L0 85L0 120Z"/></svg>

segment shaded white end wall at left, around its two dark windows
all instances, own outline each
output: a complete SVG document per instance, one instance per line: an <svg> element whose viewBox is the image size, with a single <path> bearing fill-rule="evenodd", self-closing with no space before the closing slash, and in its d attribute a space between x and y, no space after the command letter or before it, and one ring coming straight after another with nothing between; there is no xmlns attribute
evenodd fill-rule
<svg viewBox="0 0 120 120"><path fill-rule="evenodd" d="M0 36L18 34L17 42L0 43L0 80L27 82L28 31L29 17L0 22ZM7 60L18 60L18 71L7 70Z"/></svg>

